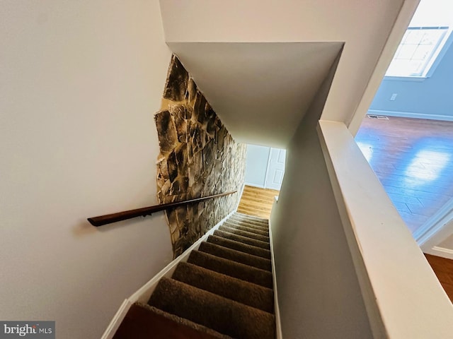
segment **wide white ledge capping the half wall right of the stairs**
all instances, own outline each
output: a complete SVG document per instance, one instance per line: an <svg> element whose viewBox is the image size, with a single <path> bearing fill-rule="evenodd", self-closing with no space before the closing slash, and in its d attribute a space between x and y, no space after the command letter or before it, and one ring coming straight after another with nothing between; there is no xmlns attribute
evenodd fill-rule
<svg viewBox="0 0 453 339"><path fill-rule="evenodd" d="M453 305L350 131L319 137L374 338L449 338Z"/></svg>

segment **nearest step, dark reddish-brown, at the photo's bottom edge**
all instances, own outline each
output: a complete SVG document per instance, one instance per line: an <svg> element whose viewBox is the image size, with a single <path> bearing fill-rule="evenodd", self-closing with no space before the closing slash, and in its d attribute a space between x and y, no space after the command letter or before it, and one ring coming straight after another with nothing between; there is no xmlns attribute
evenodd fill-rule
<svg viewBox="0 0 453 339"><path fill-rule="evenodd" d="M133 304L113 339L231 339L149 305Z"/></svg>

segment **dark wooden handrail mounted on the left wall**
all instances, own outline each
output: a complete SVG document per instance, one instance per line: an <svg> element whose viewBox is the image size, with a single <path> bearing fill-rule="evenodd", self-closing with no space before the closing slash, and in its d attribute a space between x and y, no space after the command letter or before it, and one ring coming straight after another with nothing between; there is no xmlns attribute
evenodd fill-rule
<svg viewBox="0 0 453 339"><path fill-rule="evenodd" d="M188 203L197 203L197 202L204 201L204 200L211 199L211 198L219 198L220 196L227 196L229 194L234 194L236 192L237 191L231 191L231 192L226 192L226 193L221 193L221 194L214 194L212 196L204 196L202 198L196 198L196 199L185 200L185 201L176 201L175 203L162 203L161 205L137 208L135 210L125 210L123 212L100 215L98 217L88 218L88 221L91 223L91 225L98 227L98 226L102 226L102 225L111 224L112 222L137 218L140 216L144 217L145 215L151 215L152 213L159 212L161 210L166 210L167 208L174 208L174 207L178 207L178 206L187 205Z"/></svg>

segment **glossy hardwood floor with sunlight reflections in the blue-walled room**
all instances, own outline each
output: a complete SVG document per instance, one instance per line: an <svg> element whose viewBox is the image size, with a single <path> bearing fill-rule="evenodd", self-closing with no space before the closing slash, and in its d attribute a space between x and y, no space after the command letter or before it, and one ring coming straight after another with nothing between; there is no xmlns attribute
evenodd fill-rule
<svg viewBox="0 0 453 339"><path fill-rule="evenodd" d="M453 197L453 121L365 117L355 141L412 232Z"/></svg>

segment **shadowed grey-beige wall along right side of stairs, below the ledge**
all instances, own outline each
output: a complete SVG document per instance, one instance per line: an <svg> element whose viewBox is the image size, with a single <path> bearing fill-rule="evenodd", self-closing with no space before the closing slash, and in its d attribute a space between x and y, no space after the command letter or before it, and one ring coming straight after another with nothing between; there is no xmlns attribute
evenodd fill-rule
<svg viewBox="0 0 453 339"><path fill-rule="evenodd" d="M372 338L316 134L329 77L287 148L271 215L283 338Z"/></svg>

